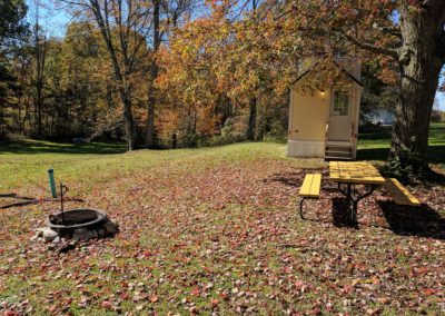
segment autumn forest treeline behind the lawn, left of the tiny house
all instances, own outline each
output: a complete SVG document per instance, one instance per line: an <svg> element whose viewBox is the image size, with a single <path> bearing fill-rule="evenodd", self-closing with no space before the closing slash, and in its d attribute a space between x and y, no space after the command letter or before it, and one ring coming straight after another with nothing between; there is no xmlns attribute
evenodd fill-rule
<svg viewBox="0 0 445 316"><path fill-rule="evenodd" d="M191 0L126 1L132 9L118 13L98 1L98 12L109 11L108 22L92 12L69 22L63 37L49 37L38 2L28 20L22 1L10 3L18 28L2 34L3 136L131 135L136 147L286 137L288 87L303 50L293 24L275 22L284 7L258 0L235 10ZM131 17L136 8L142 13ZM134 28L119 23L119 14ZM101 22L108 24L105 37ZM384 83L373 82L376 99Z"/></svg>

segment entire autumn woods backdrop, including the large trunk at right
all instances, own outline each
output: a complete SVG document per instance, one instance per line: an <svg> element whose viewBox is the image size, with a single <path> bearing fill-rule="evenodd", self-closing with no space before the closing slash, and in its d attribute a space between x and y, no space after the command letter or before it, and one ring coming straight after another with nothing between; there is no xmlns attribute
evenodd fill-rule
<svg viewBox="0 0 445 316"><path fill-rule="evenodd" d="M393 158L408 148L427 162L443 1L63 0L72 19L59 37L49 2L32 3L24 19L23 1L1 1L3 135L125 139L129 150L285 138L305 60L354 56L364 112L396 112Z"/></svg>

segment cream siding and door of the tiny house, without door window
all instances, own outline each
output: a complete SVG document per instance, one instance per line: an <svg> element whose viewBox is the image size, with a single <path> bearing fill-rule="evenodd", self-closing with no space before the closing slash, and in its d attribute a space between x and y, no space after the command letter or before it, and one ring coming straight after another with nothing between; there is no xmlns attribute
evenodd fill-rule
<svg viewBox="0 0 445 316"><path fill-rule="evenodd" d="M353 75L359 77L359 65L347 65ZM349 147L350 158L356 159L358 117L360 108L362 86L359 81L345 73L343 83L336 88L303 93L297 81L290 90L289 129L287 155L290 157L325 157L326 147ZM308 77L310 73L307 75ZM345 85L345 86L340 86ZM344 113L333 111L334 91L349 92L348 110ZM337 99L338 100L338 99ZM329 129L326 134L326 124ZM332 150L332 149L330 149ZM337 149L334 149L337 150Z"/></svg>

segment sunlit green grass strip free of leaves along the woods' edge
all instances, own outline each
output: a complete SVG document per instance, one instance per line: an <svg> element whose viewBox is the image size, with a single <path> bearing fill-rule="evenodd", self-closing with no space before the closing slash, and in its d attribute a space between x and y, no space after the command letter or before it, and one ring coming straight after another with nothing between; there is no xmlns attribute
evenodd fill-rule
<svg viewBox="0 0 445 316"><path fill-rule="evenodd" d="M68 149L67 149L68 148ZM115 154L108 154L115 151ZM103 154L98 154L103 152ZM28 188L42 191L47 170L55 169L58 181L78 182L78 190L138 172L149 172L162 164L187 164L201 159L202 166L260 158L288 159L280 144L237 144L217 148L137 150L123 152L122 145L71 145L26 140L0 145L0 191ZM317 162L315 162L317 164ZM195 169L197 166L195 165ZM199 168L199 167L198 167ZM190 170L190 172L194 170Z"/></svg>

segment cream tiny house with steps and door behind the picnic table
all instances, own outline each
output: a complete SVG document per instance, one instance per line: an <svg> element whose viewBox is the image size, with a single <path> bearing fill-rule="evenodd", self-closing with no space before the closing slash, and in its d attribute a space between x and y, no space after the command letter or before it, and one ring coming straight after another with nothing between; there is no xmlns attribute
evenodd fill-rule
<svg viewBox="0 0 445 316"><path fill-rule="evenodd" d="M306 80L324 71L316 62L291 85L287 141L289 157L356 159L363 87L360 65L354 58L332 63L339 73L334 83L320 83L322 88L309 91L301 89L307 85Z"/></svg>

